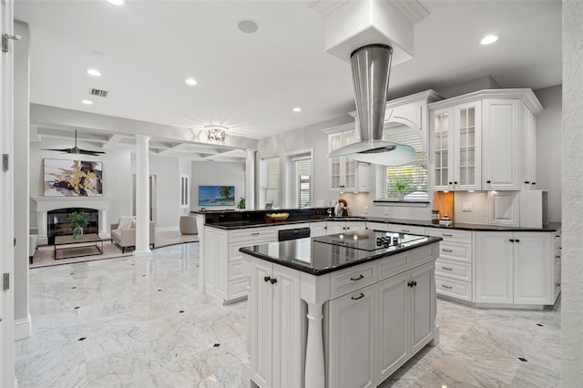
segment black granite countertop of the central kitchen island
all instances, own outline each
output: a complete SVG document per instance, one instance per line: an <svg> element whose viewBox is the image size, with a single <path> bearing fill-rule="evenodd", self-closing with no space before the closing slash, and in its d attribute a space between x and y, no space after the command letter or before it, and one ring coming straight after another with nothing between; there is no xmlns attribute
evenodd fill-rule
<svg viewBox="0 0 583 388"><path fill-rule="evenodd" d="M363 264L367 261L388 257L405 250L413 250L442 240L439 237L408 235L412 238L404 239L405 242L399 243L398 245L391 245L388 248L381 246L374 250L362 250L349 246L351 245L351 240L374 240L380 233L373 230L358 230L343 233L342 239L347 241L346 245L332 245L331 243L319 241L324 240L322 238L314 237L270 242L240 248L240 251L261 260L271 261L294 270L319 276ZM338 236L340 239L341 235L332 236ZM403 237L404 235L401 236ZM327 237L330 238L331 236Z"/></svg>

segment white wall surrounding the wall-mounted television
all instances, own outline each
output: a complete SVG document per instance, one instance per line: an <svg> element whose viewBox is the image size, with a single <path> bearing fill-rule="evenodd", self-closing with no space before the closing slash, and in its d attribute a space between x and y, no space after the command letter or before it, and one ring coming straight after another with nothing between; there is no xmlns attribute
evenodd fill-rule
<svg viewBox="0 0 583 388"><path fill-rule="evenodd" d="M235 206L205 207L207 210L235 209L239 199L245 197L245 163L235 162L192 162L190 179L190 209L199 207L199 186L234 186Z"/></svg>

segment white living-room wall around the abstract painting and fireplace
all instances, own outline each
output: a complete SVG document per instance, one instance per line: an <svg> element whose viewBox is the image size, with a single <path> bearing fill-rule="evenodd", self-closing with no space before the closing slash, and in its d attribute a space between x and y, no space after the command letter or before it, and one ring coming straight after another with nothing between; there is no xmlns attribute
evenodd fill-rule
<svg viewBox="0 0 583 388"><path fill-rule="evenodd" d="M87 155L64 154L56 151L46 151L40 148L68 148L73 147L74 138L70 142L46 139L43 143L30 143L30 196L44 196L43 160L45 158L67 160L97 160L103 163L103 197L109 198L107 209L107 223L119 220L120 215L131 214L132 181L129 149L107 149L107 154L99 157ZM78 142L79 148L93 149L92 145ZM36 202L30 200L30 225L36 227Z"/></svg>

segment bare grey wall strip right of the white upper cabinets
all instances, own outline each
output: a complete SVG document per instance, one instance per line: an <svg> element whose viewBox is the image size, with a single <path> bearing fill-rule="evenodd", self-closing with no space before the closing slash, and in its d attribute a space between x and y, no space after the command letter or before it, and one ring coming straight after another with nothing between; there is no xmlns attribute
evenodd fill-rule
<svg viewBox="0 0 583 388"><path fill-rule="evenodd" d="M561 218L562 86L535 90L544 110L537 116L537 189L548 191L548 220Z"/></svg>

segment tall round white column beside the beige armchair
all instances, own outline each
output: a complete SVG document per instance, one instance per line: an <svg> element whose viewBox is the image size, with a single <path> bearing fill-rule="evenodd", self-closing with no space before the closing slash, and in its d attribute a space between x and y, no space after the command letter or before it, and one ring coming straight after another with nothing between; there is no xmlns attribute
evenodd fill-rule
<svg viewBox="0 0 583 388"><path fill-rule="evenodd" d="M148 136L136 135L136 250L134 250L134 256L148 256L152 253L149 250L148 141Z"/></svg>

